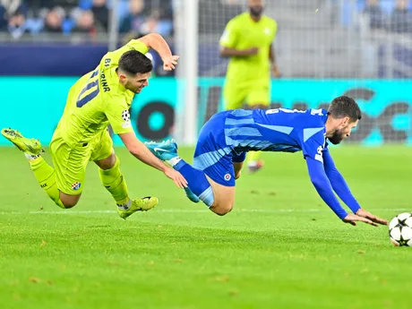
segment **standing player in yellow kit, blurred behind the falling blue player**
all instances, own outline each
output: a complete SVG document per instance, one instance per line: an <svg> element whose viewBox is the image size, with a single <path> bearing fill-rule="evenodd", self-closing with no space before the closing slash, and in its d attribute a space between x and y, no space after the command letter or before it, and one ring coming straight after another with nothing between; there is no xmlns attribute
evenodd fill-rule
<svg viewBox="0 0 412 309"><path fill-rule="evenodd" d="M270 105L270 64L279 77L272 42L278 24L263 15L263 0L248 0L249 12L237 15L227 23L220 39L220 55L230 57L223 90L225 109L243 107L267 108ZM263 166L260 152L248 154L250 172Z"/></svg>

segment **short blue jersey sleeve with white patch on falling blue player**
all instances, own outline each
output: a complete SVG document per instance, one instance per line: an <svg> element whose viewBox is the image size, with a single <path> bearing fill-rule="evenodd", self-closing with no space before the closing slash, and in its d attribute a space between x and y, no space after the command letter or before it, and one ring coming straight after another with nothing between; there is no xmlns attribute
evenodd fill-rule
<svg viewBox="0 0 412 309"><path fill-rule="evenodd" d="M323 150L327 148L324 127L306 128L301 138L304 158L310 157L323 163Z"/></svg>

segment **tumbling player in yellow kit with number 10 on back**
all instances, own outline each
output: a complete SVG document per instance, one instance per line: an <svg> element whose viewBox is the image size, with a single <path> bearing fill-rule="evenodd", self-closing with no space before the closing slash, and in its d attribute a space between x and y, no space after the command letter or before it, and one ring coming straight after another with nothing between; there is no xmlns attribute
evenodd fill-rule
<svg viewBox="0 0 412 309"><path fill-rule="evenodd" d="M150 210L158 204L156 197L133 201L129 198L107 131L108 124L134 157L164 172L178 187L186 186L180 173L167 167L136 138L130 121L133 97L148 85L153 68L150 59L144 56L150 48L159 53L165 70L175 69L178 56L171 54L167 42L159 34L149 34L108 52L94 71L83 75L73 85L50 143L54 167L42 158L38 140L25 138L10 128L2 130L4 137L25 153L40 187L57 206L67 209L79 202L89 161L99 166L101 182L115 199L121 218L126 219L138 210Z"/></svg>

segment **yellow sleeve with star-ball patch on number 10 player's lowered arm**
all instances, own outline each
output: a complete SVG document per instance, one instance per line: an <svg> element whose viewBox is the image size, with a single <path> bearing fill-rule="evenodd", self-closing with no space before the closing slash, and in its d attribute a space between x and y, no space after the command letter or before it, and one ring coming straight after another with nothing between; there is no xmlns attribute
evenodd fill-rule
<svg viewBox="0 0 412 309"><path fill-rule="evenodd" d="M124 98L113 96L107 99L105 114L114 133L123 134L133 132L129 107Z"/></svg>

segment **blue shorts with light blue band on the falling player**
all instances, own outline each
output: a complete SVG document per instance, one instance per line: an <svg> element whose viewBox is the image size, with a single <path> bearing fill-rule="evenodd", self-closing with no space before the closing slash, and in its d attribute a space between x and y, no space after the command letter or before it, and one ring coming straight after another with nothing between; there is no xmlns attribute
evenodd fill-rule
<svg viewBox="0 0 412 309"><path fill-rule="evenodd" d="M201 169L219 185L235 186L234 161L239 156L232 147L227 146L225 121L230 111L221 112L203 125L194 150L193 167ZM241 155L245 159L244 155Z"/></svg>

